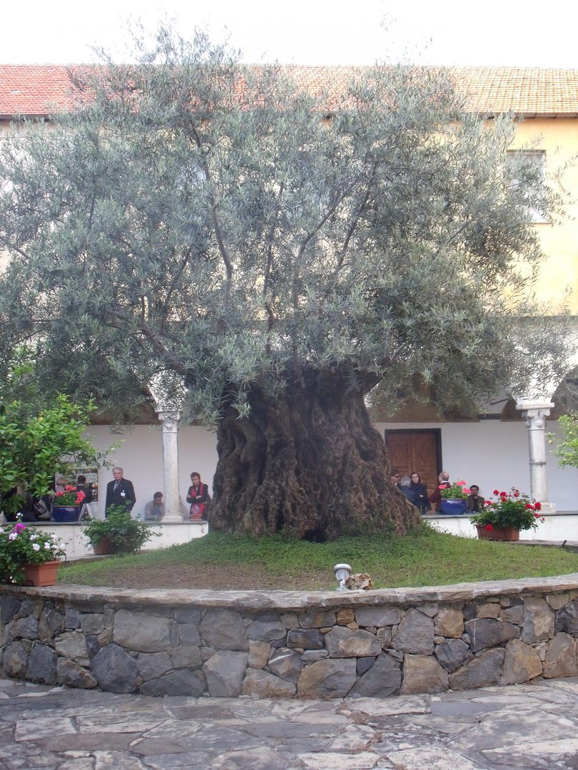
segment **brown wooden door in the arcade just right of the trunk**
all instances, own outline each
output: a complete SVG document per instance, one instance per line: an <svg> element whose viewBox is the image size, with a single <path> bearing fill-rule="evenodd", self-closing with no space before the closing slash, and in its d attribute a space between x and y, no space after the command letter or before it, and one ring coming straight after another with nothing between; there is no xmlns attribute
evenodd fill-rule
<svg viewBox="0 0 578 770"><path fill-rule="evenodd" d="M389 464L402 476L417 470L432 494L442 470L441 430L386 430Z"/></svg>

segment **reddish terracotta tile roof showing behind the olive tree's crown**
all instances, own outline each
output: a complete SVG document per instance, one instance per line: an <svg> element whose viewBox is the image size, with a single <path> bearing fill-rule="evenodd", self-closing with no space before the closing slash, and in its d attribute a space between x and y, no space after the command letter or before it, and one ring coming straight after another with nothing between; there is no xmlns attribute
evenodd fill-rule
<svg viewBox="0 0 578 770"><path fill-rule="evenodd" d="M287 69L311 91L327 86L339 91L353 68L291 65ZM578 69L459 67L449 71L469 95L473 112L578 116ZM41 117L69 104L65 65L0 65L0 117Z"/></svg>

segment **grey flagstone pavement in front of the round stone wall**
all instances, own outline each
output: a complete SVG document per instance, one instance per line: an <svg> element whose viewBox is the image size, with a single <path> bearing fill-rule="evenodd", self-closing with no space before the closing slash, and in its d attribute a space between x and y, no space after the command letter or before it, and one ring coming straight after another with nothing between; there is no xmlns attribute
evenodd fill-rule
<svg viewBox="0 0 578 770"><path fill-rule="evenodd" d="M0 678L2 770L578 768L578 678L344 700L147 698Z"/></svg>

